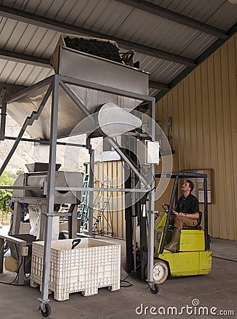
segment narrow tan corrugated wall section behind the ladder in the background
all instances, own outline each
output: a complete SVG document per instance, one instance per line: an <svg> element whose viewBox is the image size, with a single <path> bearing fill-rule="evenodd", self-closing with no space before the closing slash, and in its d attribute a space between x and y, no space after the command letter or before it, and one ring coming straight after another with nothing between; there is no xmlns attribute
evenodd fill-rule
<svg viewBox="0 0 237 319"><path fill-rule="evenodd" d="M97 182L98 181L98 182ZM114 187L118 189L123 186L123 166L121 162L99 162L94 166L94 186L97 187L104 182L104 188ZM109 201L111 211L111 220L114 229L114 236L125 238L125 211L124 211L124 193L121 191L104 191L101 194L101 201ZM94 195L97 196L97 194ZM110 198L111 196L111 198ZM108 216L108 209L105 213ZM103 221L106 226L106 221Z"/></svg>

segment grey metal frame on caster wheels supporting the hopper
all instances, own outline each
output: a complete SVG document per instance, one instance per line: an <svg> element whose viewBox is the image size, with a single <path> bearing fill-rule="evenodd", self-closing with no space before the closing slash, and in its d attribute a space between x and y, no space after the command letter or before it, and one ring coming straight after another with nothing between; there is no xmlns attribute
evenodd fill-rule
<svg viewBox="0 0 237 319"><path fill-rule="evenodd" d="M50 118L50 155L49 155L49 171L48 171L48 182L45 183L44 191L45 194L47 194L47 211L45 212L45 249L44 249L44 256L43 256L43 280L42 280L42 292L41 292L41 298L38 300L40 301L40 308L43 313L47 310L46 308L49 307L49 299L48 299L48 281L49 281L49 275L50 275L50 246L51 246L51 240L52 240L52 225L53 225L53 216L55 216L54 212L54 198L55 198L55 191L68 191L69 188L65 187L55 187L55 163L56 163L56 149L57 149L57 116L58 116L58 103L59 103L59 89L62 88L67 95L72 99L72 101L75 102L78 108L84 113L85 116L90 116L88 109L85 108L85 106L82 104L79 99L77 99L77 96L70 91L67 84L73 84L75 86L82 86L89 89L94 89L97 91L102 91L106 93L111 94L117 94L120 96L126 96L133 99L138 99L140 101L145 101L150 105L151 110L151 118L155 119L155 98L150 96L145 96L142 94L136 94L131 91L124 91L122 89L115 89L110 86L104 86L101 84L94 84L92 82L86 82L79 79L74 79L70 77L64 77L60 74L55 74L51 77L48 77L47 79L43 80L42 82L39 82L38 84L35 84L28 89L25 89L18 94L15 94L9 99L4 101L4 105L6 106L7 103L11 103L13 101L17 101L18 99L21 99L23 96L27 96L30 92L33 92L37 89L42 88L43 86L49 85L48 90L43 97L42 102L40 103L40 106L38 108L38 111L33 111L31 113L31 116L28 116L26 118L25 123L23 123L23 126L20 130L20 133L18 134L18 137L16 138L16 141L13 144L13 147L11 148L9 155L6 157L6 160L4 164L2 165L0 169L0 176L2 172L4 172L4 169L6 168L6 165L9 163L9 160L11 159L13 152L15 152L16 147L18 146L19 142L21 141L23 137L23 133L25 133L26 128L28 125L32 125L34 121L36 121L40 113L43 110L43 107L45 106L46 101L49 99L50 94L52 93L52 106L51 106L51 118ZM153 121L152 124L152 138L155 140L155 123ZM4 135L4 128L1 128L1 135ZM139 172L139 170L136 167L136 164L134 164L131 159L126 155L126 152L123 152L119 145L112 139L108 138L110 144L115 147L115 150L118 152L118 154L121 156L121 158L128 164L128 167L130 167L131 171L140 179L143 181L143 184L145 185L145 189L106 189L106 191L125 191L125 192L144 192L148 193L148 284L150 286L150 289L154 289L154 281L153 281L153 242L154 242L154 205L155 205L155 187L153 185L149 186L147 179ZM99 188L93 188L93 166L94 166L94 150L90 149L89 142L87 145L87 148L89 148L90 153L90 184L88 190L90 191L90 194L93 194L93 191L103 191L103 189ZM150 174L155 177L155 167L154 164L150 165ZM4 188L4 187L2 187ZM11 189L26 189L27 186L16 186L16 187L5 187L5 188L11 188ZM83 188L70 188L71 191L82 191ZM92 201L92 195L90 196L90 201ZM92 207L92 205L90 206ZM89 212L90 222L89 222L89 235L92 235L92 212ZM46 309L46 310L45 310Z"/></svg>

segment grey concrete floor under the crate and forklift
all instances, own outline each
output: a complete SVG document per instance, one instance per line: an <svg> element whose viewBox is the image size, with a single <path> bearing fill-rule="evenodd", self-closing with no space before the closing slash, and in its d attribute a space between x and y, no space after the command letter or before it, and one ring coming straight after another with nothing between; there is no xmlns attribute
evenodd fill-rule
<svg viewBox="0 0 237 319"><path fill-rule="evenodd" d="M121 243L124 253L125 242L115 241ZM132 286L114 292L103 288L99 289L97 295L88 297L83 297L81 293L71 293L68 301L55 301L50 295L52 313L48 318L175 317L172 313L168 313L170 311L168 307L176 307L178 313L182 312L182 315L178 315L180 318L211 318L214 317L210 313L211 310L216 311L216 314L221 310L226 310L226 313L228 310L233 310L234 315L229 313L224 315L224 318L237 318L237 242L212 239L211 249L214 252L213 267L208 275L167 279L160 285L160 292L156 295L150 293L145 281L134 277L127 279L131 281ZM121 279L125 276L126 273L122 271ZM1 274L0 280L6 281L11 278L9 274ZM0 284L1 318L43 318L40 310L37 310L39 306L37 298L40 298L38 288ZM148 307L147 314L144 307ZM208 311L209 315L199 315L198 311L202 311L199 307L206 307L205 311ZM138 308L137 313L136 308ZM150 310L153 314L150 314Z"/></svg>

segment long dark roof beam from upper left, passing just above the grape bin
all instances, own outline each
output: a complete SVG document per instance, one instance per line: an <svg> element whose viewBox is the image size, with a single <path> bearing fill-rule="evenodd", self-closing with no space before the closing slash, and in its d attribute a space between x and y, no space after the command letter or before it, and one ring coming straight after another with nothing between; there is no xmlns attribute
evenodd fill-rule
<svg viewBox="0 0 237 319"><path fill-rule="evenodd" d="M158 57L162 60L168 60L171 62L179 63L181 65L187 65L189 67L196 67L197 64L194 60L188 57L182 57L180 55L175 55L171 52L166 52L163 50L158 50L155 47L148 47L147 45L142 45L140 43L134 43L129 40L122 38L117 38L112 35L97 32L96 30L90 30L87 28L82 28L79 26L73 26L70 23L63 23L62 21L57 21L53 18L46 18L44 16L39 16L37 14L32 14L23 10L18 10L11 8L10 6L0 6L0 16L5 18L11 18L16 21L21 21L25 23L32 24L33 26L40 26L43 28L48 28L50 30L55 30L60 33L74 33L75 35L89 35L97 38L104 38L116 41L119 45L126 47L127 49L134 49L136 52L149 55L151 57Z"/></svg>

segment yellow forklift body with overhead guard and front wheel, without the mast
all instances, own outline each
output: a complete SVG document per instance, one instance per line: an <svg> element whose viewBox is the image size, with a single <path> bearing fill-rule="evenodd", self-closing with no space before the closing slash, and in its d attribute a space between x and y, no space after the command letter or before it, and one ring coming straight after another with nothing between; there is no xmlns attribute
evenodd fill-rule
<svg viewBox="0 0 237 319"><path fill-rule="evenodd" d="M162 174L155 174L155 178L161 178ZM162 284L168 276L190 276L209 274L211 272L210 237L208 235L208 205L207 205L207 181L206 174L192 172L172 172L166 174L173 180L172 194L169 204L163 204L164 211L158 214L155 220L154 234L154 267L153 277L157 284ZM204 189L204 214L199 212L197 226L183 227L180 240L177 244L177 252L165 250L165 245L172 237L172 226L169 225L170 217L175 214L178 194L179 179L199 179L203 182ZM174 205L175 203L175 205ZM204 229L201 227L204 220ZM155 293L155 292L154 292Z"/></svg>

